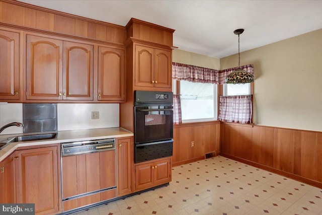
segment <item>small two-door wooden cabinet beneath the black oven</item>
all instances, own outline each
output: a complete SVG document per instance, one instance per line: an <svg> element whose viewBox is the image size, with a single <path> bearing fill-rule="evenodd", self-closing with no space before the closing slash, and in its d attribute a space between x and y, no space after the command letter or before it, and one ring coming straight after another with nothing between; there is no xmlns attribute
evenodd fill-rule
<svg viewBox="0 0 322 215"><path fill-rule="evenodd" d="M171 181L171 158L135 165L135 191Z"/></svg>

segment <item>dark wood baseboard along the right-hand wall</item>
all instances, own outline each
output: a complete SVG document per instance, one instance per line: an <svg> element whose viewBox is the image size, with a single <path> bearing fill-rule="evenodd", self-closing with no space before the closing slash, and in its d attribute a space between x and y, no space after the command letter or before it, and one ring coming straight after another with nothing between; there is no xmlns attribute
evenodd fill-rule
<svg viewBox="0 0 322 215"><path fill-rule="evenodd" d="M238 158L238 157L235 157L235 156L227 155L227 154L224 154L224 153L219 153L219 155L222 156L222 157L225 157L225 158L229 158L229 159L232 159L232 160L244 163L244 164L248 164L248 165L253 166L253 167L257 167L257 168L260 168L260 169L263 169L263 170L267 170L269 172L276 173L278 175L285 176L285 177L294 179L296 181L300 181L300 182L303 182L303 183L306 183L306 184L309 184L309 185L312 185L314 187L322 189L322 182L314 181L314 180L311 180L311 179L308 179L308 178L304 178L302 176L294 175L292 173L288 173L288 172L285 172L285 171L282 171L282 170L278 170L278 169L275 169L275 168L272 168L272 167L265 166L263 164L259 164L259 163L249 161L249 160L246 160L246 159L243 159L243 158Z"/></svg>

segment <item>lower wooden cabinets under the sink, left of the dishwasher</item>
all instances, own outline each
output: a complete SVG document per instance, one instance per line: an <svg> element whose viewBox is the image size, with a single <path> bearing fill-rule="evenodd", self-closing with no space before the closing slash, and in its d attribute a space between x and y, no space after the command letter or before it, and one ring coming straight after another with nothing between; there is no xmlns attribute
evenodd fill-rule
<svg viewBox="0 0 322 215"><path fill-rule="evenodd" d="M35 203L35 214L58 213L57 147L18 150L1 162L2 203Z"/></svg>

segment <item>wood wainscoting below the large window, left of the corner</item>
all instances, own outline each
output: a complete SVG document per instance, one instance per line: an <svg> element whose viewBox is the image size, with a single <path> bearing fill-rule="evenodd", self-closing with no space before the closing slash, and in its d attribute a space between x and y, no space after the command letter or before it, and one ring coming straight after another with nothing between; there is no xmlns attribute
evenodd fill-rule
<svg viewBox="0 0 322 215"><path fill-rule="evenodd" d="M219 135L219 121L175 125L172 166L202 160L207 153L218 155Z"/></svg>

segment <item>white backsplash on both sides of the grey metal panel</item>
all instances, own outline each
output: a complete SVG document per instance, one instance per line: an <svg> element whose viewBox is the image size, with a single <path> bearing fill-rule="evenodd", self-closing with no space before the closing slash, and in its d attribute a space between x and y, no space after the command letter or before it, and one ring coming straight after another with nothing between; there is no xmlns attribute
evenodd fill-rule
<svg viewBox="0 0 322 215"><path fill-rule="evenodd" d="M91 112L99 111L99 119ZM58 130L119 127L119 104L57 104ZM0 103L0 127L10 122L23 122L22 103ZM6 128L1 134L23 133L22 127Z"/></svg>

